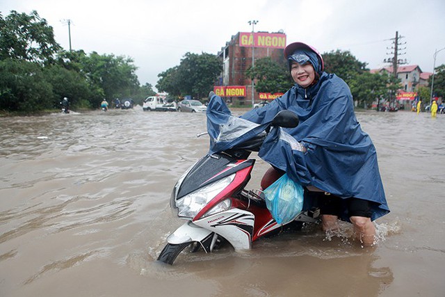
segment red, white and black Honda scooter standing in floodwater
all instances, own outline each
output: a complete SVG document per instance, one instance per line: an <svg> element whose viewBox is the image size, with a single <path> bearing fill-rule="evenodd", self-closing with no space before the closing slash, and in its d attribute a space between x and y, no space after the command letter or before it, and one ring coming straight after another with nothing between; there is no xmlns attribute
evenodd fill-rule
<svg viewBox="0 0 445 297"><path fill-rule="evenodd" d="M278 224L266 207L264 193L245 189L255 163L255 159L249 159L250 154L259 151L270 129L295 124L298 117L294 113L281 111L257 136L223 152L207 154L188 168L170 198L170 207L187 222L168 236L157 260L171 265L188 246L192 252L200 248L212 252L228 242L236 251L247 250L257 239L277 234L285 227L318 221L319 209L313 207L287 224ZM236 130L233 126L227 129Z"/></svg>

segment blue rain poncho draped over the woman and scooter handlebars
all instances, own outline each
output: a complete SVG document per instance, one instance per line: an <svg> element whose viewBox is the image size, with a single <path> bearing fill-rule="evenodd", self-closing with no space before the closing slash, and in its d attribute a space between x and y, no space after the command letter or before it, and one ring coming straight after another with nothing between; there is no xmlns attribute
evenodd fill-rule
<svg viewBox="0 0 445 297"><path fill-rule="evenodd" d="M259 157L302 186L316 186L340 198L375 202L371 204L371 220L387 214L389 207L375 147L355 118L348 86L335 74L323 72L318 82L307 89L296 84L282 97L241 118L233 117L223 99L213 95L207 107L209 154L259 134L284 109L296 113L300 124L296 128L272 129L261 145ZM229 136L229 126L240 128ZM300 144L307 152L301 151ZM348 214L342 218L348 220Z"/></svg>

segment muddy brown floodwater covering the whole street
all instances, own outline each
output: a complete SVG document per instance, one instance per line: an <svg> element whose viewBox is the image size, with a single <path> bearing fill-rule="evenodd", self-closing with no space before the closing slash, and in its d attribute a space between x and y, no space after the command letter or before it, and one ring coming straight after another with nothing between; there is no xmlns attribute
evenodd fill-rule
<svg viewBox="0 0 445 297"><path fill-rule="evenodd" d="M184 223L168 201L207 152L205 115L0 118L0 296L445 296L445 115L357 118L391 208L376 246L349 238L350 224L339 236L308 226L173 266L156 262ZM267 168L257 162L251 188Z"/></svg>

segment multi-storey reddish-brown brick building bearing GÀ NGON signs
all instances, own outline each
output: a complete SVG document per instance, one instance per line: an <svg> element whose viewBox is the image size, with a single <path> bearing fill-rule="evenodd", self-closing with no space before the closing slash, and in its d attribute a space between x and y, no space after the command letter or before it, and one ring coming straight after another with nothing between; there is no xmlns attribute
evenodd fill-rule
<svg viewBox="0 0 445 297"><path fill-rule="evenodd" d="M246 76L246 71L252 66L252 56L255 61L270 56L273 61L284 63L284 47L286 35L282 32L236 33L218 52L223 61L223 72L216 83L215 93L240 104L252 104L252 99L258 102L259 93L253 87L252 97L252 80Z"/></svg>

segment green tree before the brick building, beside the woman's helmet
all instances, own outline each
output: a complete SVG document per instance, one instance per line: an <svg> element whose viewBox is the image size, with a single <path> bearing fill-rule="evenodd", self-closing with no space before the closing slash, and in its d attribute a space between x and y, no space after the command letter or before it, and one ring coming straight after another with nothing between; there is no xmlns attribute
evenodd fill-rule
<svg viewBox="0 0 445 297"><path fill-rule="evenodd" d="M280 65L270 57L255 61L254 67L246 71L250 79L257 79L256 90L261 93L285 93L293 86L286 64Z"/></svg>

